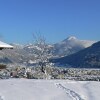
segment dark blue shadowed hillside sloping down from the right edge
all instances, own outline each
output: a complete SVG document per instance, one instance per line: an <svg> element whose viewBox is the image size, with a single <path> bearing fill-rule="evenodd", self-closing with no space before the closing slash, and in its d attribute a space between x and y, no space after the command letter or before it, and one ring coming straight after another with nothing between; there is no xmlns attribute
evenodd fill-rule
<svg viewBox="0 0 100 100"><path fill-rule="evenodd" d="M72 67L100 68L100 42L75 54L54 59L53 62L61 65L69 64Z"/></svg>

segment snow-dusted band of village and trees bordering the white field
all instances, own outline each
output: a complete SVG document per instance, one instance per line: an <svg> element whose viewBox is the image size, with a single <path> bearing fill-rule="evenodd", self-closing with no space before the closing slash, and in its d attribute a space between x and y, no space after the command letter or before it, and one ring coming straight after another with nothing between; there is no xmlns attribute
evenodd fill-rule
<svg viewBox="0 0 100 100"><path fill-rule="evenodd" d="M3 66L4 65L0 65ZM0 69L0 79L64 79L76 81L100 81L100 69L44 67L8 67Z"/></svg>

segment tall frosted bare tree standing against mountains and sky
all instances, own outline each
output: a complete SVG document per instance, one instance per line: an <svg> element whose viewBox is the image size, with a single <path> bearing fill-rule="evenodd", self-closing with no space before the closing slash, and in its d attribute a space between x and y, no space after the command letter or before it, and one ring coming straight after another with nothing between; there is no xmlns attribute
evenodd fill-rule
<svg viewBox="0 0 100 100"><path fill-rule="evenodd" d="M41 71L45 73L44 67L49 64L49 58L52 56L51 46L47 44L46 39L43 36L36 36L33 34L35 46L37 46L37 62L41 67Z"/></svg>

